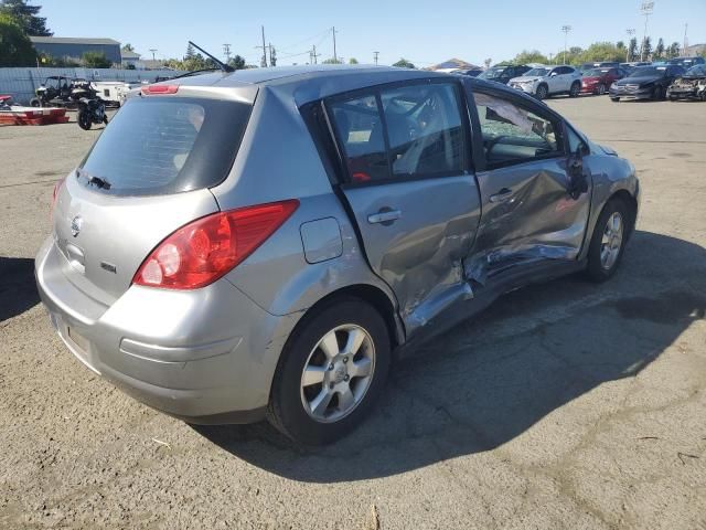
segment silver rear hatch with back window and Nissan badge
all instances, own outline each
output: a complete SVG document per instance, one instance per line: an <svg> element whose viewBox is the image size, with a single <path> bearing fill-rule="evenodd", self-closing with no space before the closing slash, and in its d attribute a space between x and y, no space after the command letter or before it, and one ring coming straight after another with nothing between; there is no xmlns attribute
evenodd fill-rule
<svg viewBox="0 0 706 530"><path fill-rule="evenodd" d="M111 305L169 234L218 210L252 104L137 96L57 192L54 240L74 286Z"/></svg>

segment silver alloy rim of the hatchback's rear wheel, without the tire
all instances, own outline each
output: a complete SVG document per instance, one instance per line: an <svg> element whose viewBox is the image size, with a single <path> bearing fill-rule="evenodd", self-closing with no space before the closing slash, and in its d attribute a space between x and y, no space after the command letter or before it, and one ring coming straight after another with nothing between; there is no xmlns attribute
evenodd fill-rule
<svg viewBox="0 0 706 530"><path fill-rule="evenodd" d="M309 353L301 374L307 414L333 423L363 401L375 372L375 344L360 326L346 324L325 333Z"/></svg>

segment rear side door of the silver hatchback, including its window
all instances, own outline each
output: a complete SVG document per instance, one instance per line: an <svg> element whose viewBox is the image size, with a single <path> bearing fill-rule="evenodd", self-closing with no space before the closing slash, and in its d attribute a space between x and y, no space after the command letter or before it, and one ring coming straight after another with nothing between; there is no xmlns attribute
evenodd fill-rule
<svg viewBox="0 0 706 530"><path fill-rule="evenodd" d="M480 194L462 102L460 83L447 80L327 102L345 174L341 191L408 332L470 295L463 258L478 227Z"/></svg>

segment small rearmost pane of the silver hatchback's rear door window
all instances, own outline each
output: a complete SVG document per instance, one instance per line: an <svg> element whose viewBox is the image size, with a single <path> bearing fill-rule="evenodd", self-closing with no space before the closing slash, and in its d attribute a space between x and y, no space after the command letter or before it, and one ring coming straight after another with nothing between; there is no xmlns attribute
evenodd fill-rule
<svg viewBox="0 0 706 530"><path fill-rule="evenodd" d="M363 96L330 106L354 182L389 177L385 137L375 96Z"/></svg>

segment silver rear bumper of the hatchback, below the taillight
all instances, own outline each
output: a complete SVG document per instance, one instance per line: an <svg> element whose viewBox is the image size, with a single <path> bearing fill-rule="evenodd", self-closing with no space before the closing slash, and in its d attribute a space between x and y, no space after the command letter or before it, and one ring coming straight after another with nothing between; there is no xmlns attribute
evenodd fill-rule
<svg viewBox="0 0 706 530"><path fill-rule="evenodd" d="M130 287L100 306L62 274L54 242L35 276L54 329L74 356L145 404L192 423L263 417L286 317L254 304L229 282L191 292Z"/></svg>

